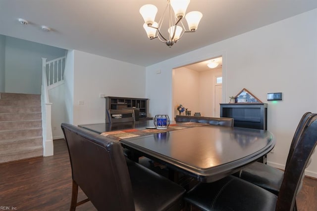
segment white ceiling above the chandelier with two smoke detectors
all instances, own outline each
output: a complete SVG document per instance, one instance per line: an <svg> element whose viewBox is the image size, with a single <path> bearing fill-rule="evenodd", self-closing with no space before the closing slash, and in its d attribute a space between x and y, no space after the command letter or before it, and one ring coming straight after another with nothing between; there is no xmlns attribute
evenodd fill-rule
<svg viewBox="0 0 317 211"><path fill-rule="evenodd" d="M148 66L317 8L317 0L192 0L187 12L203 13L198 30L168 48L146 36L139 8L147 3L158 19L166 0L0 0L0 34Z"/></svg>

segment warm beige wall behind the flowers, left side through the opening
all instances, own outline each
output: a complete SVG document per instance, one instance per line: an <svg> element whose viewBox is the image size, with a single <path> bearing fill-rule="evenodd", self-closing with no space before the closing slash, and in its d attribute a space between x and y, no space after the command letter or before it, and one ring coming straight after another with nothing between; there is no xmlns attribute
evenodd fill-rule
<svg viewBox="0 0 317 211"><path fill-rule="evenodd" d="M188 110L199 111L199 72L180 67L174 70L173 76L174 114L178 115L177 106L182 105ZM167 112L167 110L165 111ZM185 111L182 113L185 115Z"/></svg>

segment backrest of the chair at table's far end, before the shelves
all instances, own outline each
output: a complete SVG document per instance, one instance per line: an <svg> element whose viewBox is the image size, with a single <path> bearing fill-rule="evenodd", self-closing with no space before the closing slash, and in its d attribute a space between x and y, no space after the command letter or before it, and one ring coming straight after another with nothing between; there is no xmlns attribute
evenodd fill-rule
<svg viewBox="0 0 317 211"><path fill-rule="evenodd" d="M134 109L107 109L106 123L135 122Z"/></svg>

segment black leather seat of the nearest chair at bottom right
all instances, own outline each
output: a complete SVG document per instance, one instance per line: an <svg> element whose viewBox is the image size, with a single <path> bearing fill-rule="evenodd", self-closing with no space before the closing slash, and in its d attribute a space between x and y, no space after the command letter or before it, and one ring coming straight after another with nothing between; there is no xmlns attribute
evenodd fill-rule
<svg viewBox="0 0 317 211"><path fill-rule="evenodd" d="M184 199L203 211L274 211L277 196L250 182L228 176L216 182L200 183Z"/></svg>

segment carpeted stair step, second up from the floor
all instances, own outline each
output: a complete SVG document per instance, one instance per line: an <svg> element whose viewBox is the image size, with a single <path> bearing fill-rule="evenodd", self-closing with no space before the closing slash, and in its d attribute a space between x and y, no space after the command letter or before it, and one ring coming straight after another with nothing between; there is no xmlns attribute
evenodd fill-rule
<svg viewBox="0 0 317 211"><path fill-rule="evenodd" d="M0 154L5 153L5 151L7 150L14 150L18 148L23 150L26 147L36 147L36 146L42 146L42 145L43 145L42 136L1 140Z"/></svg>

